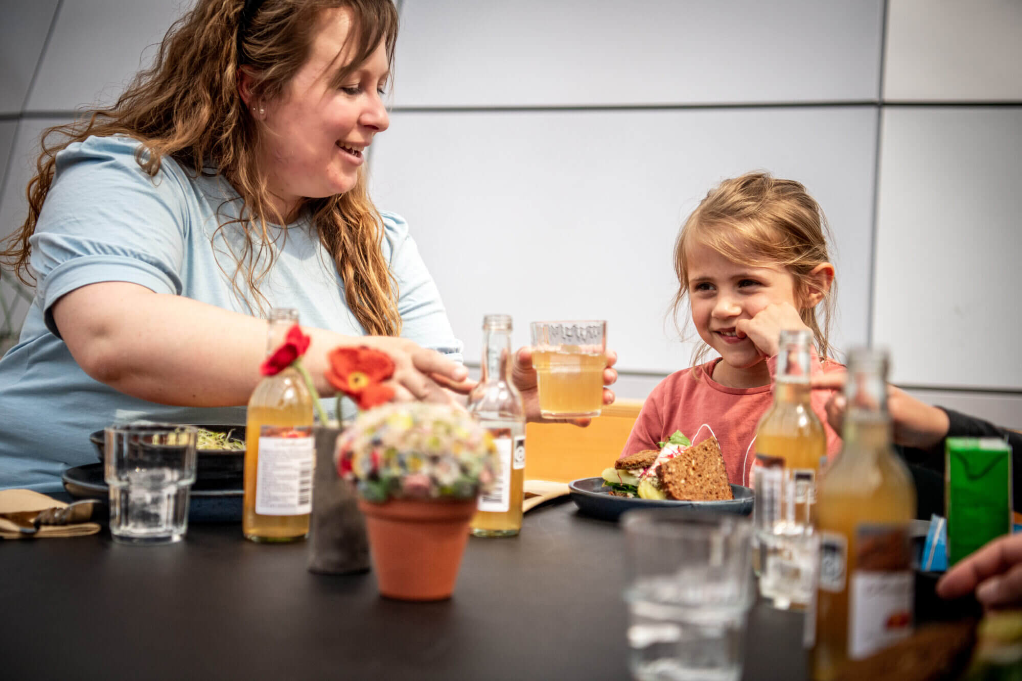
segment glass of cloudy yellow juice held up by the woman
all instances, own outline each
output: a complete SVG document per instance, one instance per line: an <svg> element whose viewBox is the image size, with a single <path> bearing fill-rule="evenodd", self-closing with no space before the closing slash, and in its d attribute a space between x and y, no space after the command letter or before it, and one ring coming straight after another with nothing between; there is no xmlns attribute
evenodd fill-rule
<svg viewBox="0 0 1022 681"><path fill-rule="evenodd" d="M530 326L540 413L547 418L599 416L607 322L544 321Z"/></svg>

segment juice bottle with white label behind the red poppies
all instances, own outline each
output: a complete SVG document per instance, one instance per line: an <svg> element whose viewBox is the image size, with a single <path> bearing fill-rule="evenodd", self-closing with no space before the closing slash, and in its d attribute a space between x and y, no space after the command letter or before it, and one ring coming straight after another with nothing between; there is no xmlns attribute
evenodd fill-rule
<svg viewBox="0 0 1022 681"><path fill-rule="evenodd" d="M298 323L297 310L270 312L267 354ZM313 397L293 367L266 376L248 401L241 530L254 542L309 535L314 466Z"/></svg>

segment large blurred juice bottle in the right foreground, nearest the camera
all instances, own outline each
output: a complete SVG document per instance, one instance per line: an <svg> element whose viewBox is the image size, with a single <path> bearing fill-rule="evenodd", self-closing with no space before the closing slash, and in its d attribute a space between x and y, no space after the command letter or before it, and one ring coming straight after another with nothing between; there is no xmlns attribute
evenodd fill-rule
<svg viewBox="0 0 1022 681"><path fill-rule="evenodd" d="M818 490L819 581L806 620L817 681L913 630L916 488L891 447L886 379L886 353L852 351L844 444Z"/></svg>

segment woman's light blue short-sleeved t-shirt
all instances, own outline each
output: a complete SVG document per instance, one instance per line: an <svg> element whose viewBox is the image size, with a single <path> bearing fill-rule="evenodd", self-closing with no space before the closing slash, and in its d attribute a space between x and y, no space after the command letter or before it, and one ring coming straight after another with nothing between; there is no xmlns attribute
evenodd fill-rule
<svg viewBox="0 0 1022 681"><path fill-rule="evenodd" d="M101 281L129 281L250 314L231 285L231 254L244 243L239 224L230 223L238 216L238 194L222 177L190 177L169 158L150 177L136 161L138 149L134 139L90 137L57 154L31 239L36 297L18 344L0 360L0 489L60 491L64 469L97 461L89 434L114 422L245 421L244 406L172 407L90 378L53 323L51 309L61 296ZM364 335L309 220L270 231L276 261L259 284L266 309L295 308L304 326ZM398 282L402 335L460 362L462 344L399 216L383 214L381 246ZM244 291L244 279L238 283Z"/></svg>

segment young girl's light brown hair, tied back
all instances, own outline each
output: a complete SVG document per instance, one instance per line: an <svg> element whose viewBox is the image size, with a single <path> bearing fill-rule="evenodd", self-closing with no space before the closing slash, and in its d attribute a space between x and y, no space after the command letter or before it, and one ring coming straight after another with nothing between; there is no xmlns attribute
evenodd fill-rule
<svg viewBox="0 0 1022 681"><path fill-rule="evenodd" d="M814 292L823 293L816 307L804 307L799 312L812 330L817 354L821 359L830 357L834 349L828 336L837 281L832 281L828 290L820 290L808 276L812 268L830 262L830 240L827 218L801 183L763 172L725 180L710 189L675 240L675 273L680 284L670 306L675 324L683 331L678 313L689 292L689 246L698 242L733 262L787 268L795 282L796 302L807 300ZM817 317L818 307L822 307L823 323ZM705 362L709 350L709 346L700 344L693 352L693 366Z"/></svg>

